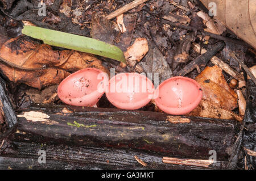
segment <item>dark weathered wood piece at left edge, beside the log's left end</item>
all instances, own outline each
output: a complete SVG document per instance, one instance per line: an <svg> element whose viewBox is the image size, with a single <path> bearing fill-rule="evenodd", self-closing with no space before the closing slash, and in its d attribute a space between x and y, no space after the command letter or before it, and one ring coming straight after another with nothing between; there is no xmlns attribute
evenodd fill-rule
<svg viewBox="0 0 256 181"><path fill-rule="evenodd" d="M5 118L7 126L11 128L17 123L17 118L5 87L5 81L0 77L0 111Z"/></svg>

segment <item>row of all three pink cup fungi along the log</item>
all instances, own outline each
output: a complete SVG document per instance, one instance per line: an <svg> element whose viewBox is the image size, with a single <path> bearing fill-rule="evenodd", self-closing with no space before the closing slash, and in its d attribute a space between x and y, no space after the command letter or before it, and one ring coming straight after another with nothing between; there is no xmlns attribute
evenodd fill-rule
<svg viewBox="0 0 256 181"><path fill-rule="evenodd" d="M137 110L155 99L160 110L172 115L191 112L203 96L200 85L191 78L172 77L155 90L142 74L120 73L109 80L107 74L95 68L76 71L57 89L59 98L73 106L95 106L104 92L117 108Z"/></svg>

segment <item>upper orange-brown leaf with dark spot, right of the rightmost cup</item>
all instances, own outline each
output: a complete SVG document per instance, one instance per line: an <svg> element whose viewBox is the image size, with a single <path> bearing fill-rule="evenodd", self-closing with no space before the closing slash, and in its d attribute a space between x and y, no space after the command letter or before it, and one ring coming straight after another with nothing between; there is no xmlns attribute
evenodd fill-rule
<svg viewBox="0 0 256 181"><path fill-rule="evenodd" d="M207 66L195 80L203 89L203 98L226 110L237 108L237 94L226 82L222 69Z"/></svg>

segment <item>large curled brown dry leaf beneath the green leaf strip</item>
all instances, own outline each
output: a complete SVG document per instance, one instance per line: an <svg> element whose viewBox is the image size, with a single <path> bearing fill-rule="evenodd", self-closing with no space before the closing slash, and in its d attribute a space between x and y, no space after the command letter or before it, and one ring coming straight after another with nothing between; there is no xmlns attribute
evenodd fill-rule
<svg viewBox="0 0 256 181"><path fill-rule="evenodd" d="M1 36L0 36L1 39ZM53 50L51 46L40 44L27 36L18 36L3 43L0 69L13 82L42 89L60 83L70 73L66 70L79 70L89 67L108 70L92 54L73 50Z"/></svg>

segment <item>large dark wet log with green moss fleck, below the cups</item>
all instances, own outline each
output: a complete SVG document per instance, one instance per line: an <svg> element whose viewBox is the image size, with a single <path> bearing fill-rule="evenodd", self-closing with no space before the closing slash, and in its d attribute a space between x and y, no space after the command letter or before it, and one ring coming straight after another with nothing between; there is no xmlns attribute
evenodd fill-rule
<svg viewBox="0 0 256 181"><path fill-rule="evenodd" d="M109 108L34 106L18 113L14 142L133 149L168 157L226 161L237 121L187 117L171 123L166 113ZM82 112L80 112L82 111ZM1 141L1 140L0 140Z"/></svg>

